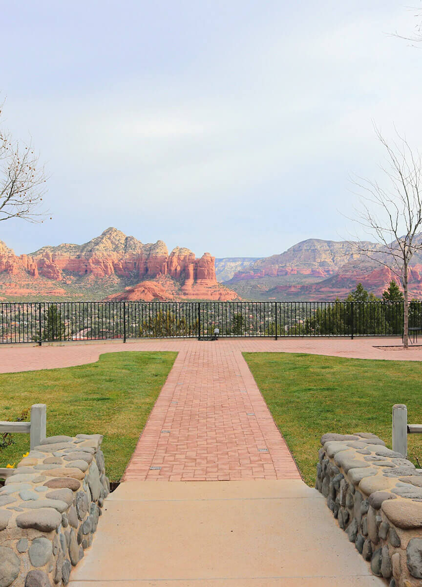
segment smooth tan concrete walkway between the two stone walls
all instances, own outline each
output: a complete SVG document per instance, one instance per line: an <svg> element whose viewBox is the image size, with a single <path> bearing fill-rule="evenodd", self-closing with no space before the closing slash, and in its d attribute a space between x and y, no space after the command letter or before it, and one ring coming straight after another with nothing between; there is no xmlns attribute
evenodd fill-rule
<svg viewBox="0 0 422 587"><path fill-rule="evenodd" d="M70 587L369 587L386 583L300 480L126 481Z"/></svg>

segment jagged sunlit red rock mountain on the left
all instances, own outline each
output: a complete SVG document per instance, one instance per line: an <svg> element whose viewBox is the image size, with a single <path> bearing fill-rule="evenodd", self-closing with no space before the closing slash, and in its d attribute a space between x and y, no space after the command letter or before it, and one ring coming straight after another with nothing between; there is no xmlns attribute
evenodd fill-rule
<svg viewBox="0 0 422 587"><path fill-rule="evenodd" d="M170 281L159 284L166 276ZM171 283L172 291L166 291ZM176 247L169 254L163 241L142 244L115 228L107 228L83 245L43 247L19 257L0 241L0 296L4 299L98 299L124 288L136 289L137 293L125 290L115 297L239 299L235 292L217 283L215 258L209 253L196 259L189 249Z"/></svg>

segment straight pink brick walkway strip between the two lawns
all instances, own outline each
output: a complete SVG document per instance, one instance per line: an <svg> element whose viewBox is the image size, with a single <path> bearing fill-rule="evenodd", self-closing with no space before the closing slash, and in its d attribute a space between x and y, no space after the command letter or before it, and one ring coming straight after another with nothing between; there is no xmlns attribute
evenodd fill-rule
<svg viewBox="0 0 422 587"><path fill-rule="evenodd" d="M191 346L179 352L124 480L300 479L240 351Z"/></svg>

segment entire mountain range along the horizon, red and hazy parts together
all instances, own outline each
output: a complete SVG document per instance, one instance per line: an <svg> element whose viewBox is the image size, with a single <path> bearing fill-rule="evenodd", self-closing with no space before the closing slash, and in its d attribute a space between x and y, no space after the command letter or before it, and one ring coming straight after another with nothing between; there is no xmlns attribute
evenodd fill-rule
<svg viewBox="0 0 422 587"><path fill-rule="evenodd" d="M311 238L271 257L219 259L208 252L196 258L184 247L169 253L164 241L142 244L116 228L83 245L28 255L17 256L0 241L0 301L330 301L345 298L359 281L380 296L392 279L398 281L348 241ZM409 291L422 298L419 251L411 260Z"/></svg>

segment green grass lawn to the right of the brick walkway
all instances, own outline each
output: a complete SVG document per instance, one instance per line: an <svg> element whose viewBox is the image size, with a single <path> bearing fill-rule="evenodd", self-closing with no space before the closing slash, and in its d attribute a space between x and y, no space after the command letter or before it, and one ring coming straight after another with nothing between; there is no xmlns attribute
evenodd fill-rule
<svg viewBox="0 0 422 587"><path fill-rule="evenodd" d="M342 359L300 353L243 353L305 481L315 483L319 438L372 432L391 447L392 407L422 423L422 362ZM422 463L422 435L408 437Z"/></svg>

